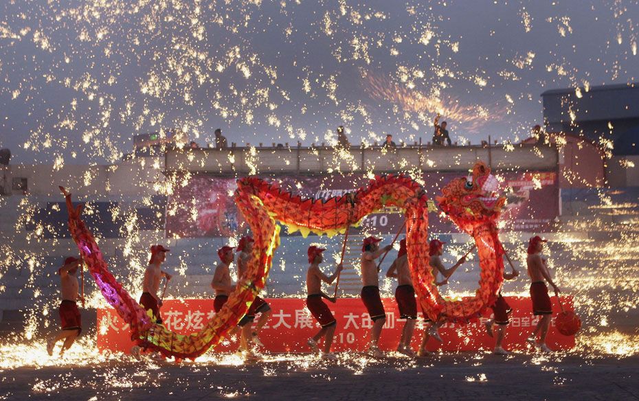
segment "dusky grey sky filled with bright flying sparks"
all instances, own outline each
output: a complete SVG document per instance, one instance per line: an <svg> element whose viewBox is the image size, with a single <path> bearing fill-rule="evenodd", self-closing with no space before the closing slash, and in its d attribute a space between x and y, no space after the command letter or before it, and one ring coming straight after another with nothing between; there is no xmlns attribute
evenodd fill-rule
<svg viewBox="0 0 639 401"><path fill-rule="evenodd" d="M453 140L522 139L542 91L639 74L636 0L96 3L1 3L14 163L114 161L160 126L201 144L218 127L328 142L339 124L355 143L429 141L438 109Z"/></svg>

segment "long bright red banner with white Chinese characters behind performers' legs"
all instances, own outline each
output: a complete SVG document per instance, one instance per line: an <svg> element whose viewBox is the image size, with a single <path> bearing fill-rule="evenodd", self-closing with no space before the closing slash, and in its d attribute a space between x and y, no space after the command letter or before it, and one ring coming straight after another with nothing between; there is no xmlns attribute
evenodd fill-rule
<svg viewBox="0 0 639 401"><path fill-rule="evenodd" d="M267 299L273 315L260 334L260 339L269 352L310 352L306 340L313 336L319 326L308 309L305 299L276 298ZM386 324L381 333L379 346L382 350L395 350L403 319L399 319L397 305L392 298L382 299L386 310ZM528 297L506 297L513 308L511 324L506 332L504 346L507 350L524 350L526 337L533 332L537 317L533 316ZM553 310L558 311L557 299L552 298ZM562 297L565 310L572 310L572 297ZM328 303L328 307L337 319L337 330L333 350L363 351L368 346L368 330L372 322L359 298L342 298L337 303ZM447 323L440 329L443 343L431 339L428 349L445 351L491 350L494 339L484 330L483 323L491 317L492 310L484 311L483 317L469 325ZM214 316L212 299L184 299L164 301L161 311L166 328L180 334L188 334L201 330L206 322ZM413 348L416 350L423 333L422 316L418 317L418 328L413 336ZM237 349L238 341L224 342L215 348L216 352L231 352ZM563 336L554 328L554 317L548 345L553 350L567 350L574 347L574 336ZM120 319L113 309L98 309L98 349L128 353L133 342L128 325Z"/></svg>

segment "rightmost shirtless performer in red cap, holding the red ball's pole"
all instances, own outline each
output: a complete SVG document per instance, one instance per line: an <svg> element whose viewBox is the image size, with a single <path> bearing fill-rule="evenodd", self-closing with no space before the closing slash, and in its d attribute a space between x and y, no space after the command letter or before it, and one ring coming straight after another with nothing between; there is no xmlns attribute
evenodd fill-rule
<svg viewBox="0 0 639 401"><path fill-rule="evenodd" d="M537 322L533 334L526 341L543 352L552 352L546 345L546 334L548 334L550 319L552 318L552 304L550 303L550 297L548 297L546 282L552 286L554 295L557 297L559 297L560 291L559 287L552 282L546 258L541 257L543 242L548 242L548 240L543 240L540 236L534 236L528 242L526 264L528 265L528 276L530 276L530 281L532 282L530 284L530 299L533 301L533 314L540 315L541 319ZM537 334L539 334L539 341L537 341Z"/></svg>

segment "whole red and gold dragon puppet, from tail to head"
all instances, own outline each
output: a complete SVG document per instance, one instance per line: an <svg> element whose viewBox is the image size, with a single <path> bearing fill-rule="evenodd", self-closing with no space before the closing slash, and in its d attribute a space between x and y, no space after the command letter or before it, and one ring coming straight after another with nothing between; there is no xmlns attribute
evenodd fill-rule
<svg viewBox="0 0 639 401"><path fill-rule="evenodd" d="M165 356L191 359L218 344L237 325L264 287L273 252L280 243L280 226L276 220L291 231L300 230L304 236L311 232L333 236L383 207L404 209L408 262L423 312L434 321L443 318L466 322L477 317L495 301L503 281L503 250L497 238L496 221L505 200L494 196L496 191L495 177L484 163L478 162L472 177L451 181L437 198L442 211L475 239L482 268L475 297L445 299L434 285L429 266L427 197L423 187L409 176L379 176L366 187L328 200L295 196L256 177L239 179L235 203L251 227L255 240L247 271L238 279L227 303L202 330L181 335L153 323L147 312L117 282L109 272L98 244L80 219L80 208L74 209L71 196L63 190L71 236L106 301L131 326L132 338Z"/></svg>

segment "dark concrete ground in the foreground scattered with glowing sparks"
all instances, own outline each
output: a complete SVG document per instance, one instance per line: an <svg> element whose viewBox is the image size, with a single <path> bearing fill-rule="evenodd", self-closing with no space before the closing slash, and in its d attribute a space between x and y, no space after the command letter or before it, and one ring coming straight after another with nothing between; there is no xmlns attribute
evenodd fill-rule
<svg viewBox="0 0 639 401"><path fill-rule="evenodd" d="M0 371L0 400L639 400L639 356L508 358L484 353L410 360L341 354L233 356L175 365L129 357Z"/></svg>

